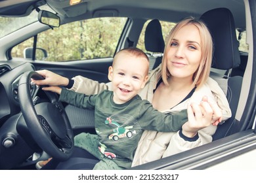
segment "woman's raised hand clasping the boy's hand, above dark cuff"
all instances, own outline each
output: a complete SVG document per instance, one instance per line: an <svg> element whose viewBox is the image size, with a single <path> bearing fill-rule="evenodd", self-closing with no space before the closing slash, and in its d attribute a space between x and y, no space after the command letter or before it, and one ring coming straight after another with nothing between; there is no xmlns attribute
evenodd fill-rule
<svg viewBox="0 0 256 183"><path fill-rule="evenodd" d="M188 122L182 125L182 133L186 137L194 137L198 130L209 125L218 125L221 119L222 113L217 103L209 103L207 97L203 97L200 105L188 105Z"/></svg>

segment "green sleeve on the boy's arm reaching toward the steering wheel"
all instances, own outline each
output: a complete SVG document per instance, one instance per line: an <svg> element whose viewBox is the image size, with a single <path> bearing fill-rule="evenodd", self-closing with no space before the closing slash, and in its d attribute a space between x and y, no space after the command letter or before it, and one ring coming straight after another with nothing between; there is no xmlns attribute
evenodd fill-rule
<svg viewBox="0 0 256 183"><path fill-rule="evenodd" d="M95 108L96 95L87 96L83 93L73 92L65 88L60 93L59 101L69 103L79 108Z"/></svg>

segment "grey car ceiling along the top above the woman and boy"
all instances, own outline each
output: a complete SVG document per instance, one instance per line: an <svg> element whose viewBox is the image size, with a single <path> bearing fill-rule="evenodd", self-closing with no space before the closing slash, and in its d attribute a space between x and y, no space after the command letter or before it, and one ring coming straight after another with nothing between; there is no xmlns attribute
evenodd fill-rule
<svg viewBox="0 0 256 183"><path fill-rule="evenodd" d="M186 16L199 17L213 8L229 8L236 27L245 27L244 0L81 0L70 6L70 0L4 0L0 1L1 16L26 16L33 7L47 3L61 18L77 20L98 16L123 16L131 18L158 18L177 22ZM128 8L129 7L129 8Z"/></svg>

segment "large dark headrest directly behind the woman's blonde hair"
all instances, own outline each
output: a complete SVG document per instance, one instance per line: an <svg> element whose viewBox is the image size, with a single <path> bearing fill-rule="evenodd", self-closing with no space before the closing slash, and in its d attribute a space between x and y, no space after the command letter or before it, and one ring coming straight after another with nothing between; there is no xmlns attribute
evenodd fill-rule
<svg viewBox="0 0 256 183"><path fill-rule="evenodd" d="M213 63L215 69L232 69L240 65L239 42L232 12L215 8L202 14L200 20L207 25L213 38Z"/></svg>

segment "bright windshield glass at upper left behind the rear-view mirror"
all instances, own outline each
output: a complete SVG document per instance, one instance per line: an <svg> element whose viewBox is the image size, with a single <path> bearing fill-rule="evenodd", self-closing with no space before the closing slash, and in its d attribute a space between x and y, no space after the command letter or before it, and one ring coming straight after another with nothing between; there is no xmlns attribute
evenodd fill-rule
<svg viewBox="0 0 256 183"><path fill-rule="evenodd" d="M42 10L51 10L50 7L44 5L40 7ZM53 11L53 10L51 10ZM37 22L38 12L33 10L33 12L29 16L23 17L3 17L0 16L0 38L8 35L26 25L32 24L33 22Z"/></svg>

